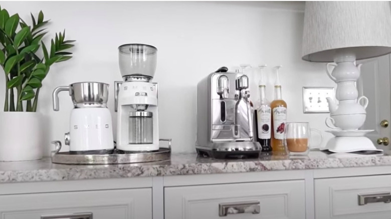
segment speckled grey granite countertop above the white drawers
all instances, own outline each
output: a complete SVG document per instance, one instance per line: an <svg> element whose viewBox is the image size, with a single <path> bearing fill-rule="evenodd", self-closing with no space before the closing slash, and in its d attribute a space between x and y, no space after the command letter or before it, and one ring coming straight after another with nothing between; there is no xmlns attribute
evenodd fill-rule
<svg viewBox="0 0 391 219"><path fill-rule="evenodd" d="M0 183L93 178L257 172L391 165L391 155L327 154L307 156L264 155L256 159L213 159L197 153L172 153L171 159L117 165L69 165L52 163L50 157L34 161L0 162Z"/></svg>

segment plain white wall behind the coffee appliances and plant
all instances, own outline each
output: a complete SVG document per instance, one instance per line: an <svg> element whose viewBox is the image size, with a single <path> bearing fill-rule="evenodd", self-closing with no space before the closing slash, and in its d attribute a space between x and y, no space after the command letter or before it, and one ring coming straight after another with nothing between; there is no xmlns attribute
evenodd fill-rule
<svg viewBox="0 0 391 219"><path fill-rule="evenodd" d="M158 48L154 81L159 83L160 137L172 138L176 152L194 151L197 82L221 66L234 70L241 63L282 64L288 120L326 129L327 114L302 113L302 86L334 85L324 72L325 64L301 60L303 2L7 1L1 6L28 21L30 11L42 9L51 19L49 36L66 28L68 39L77 40L74 58L53 66L41 89L38 111L46 118L46 154L51 140L63 140L73 107L63 92L60 111L53 111L51 93L56 86L89 80L110 83L108 104L115 127L113 81L121 80L117 47L134 42ZM255 71L248 72L252 77ZM3 84L0 76L1 104ZM256 93L255 83L251 88ZM272 84L267 91L272 100Z"/></svg>

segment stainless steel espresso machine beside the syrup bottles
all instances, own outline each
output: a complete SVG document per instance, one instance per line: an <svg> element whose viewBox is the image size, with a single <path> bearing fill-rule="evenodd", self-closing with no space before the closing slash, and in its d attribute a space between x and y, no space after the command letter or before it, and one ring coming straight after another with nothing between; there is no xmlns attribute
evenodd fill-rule
<svg viewBox="0 0 391 219"><path fill-rule="evenodd" d="M197 142L201 155L215 158L258 157L254 140L249 78L221 67L197 85Z"/></svg>

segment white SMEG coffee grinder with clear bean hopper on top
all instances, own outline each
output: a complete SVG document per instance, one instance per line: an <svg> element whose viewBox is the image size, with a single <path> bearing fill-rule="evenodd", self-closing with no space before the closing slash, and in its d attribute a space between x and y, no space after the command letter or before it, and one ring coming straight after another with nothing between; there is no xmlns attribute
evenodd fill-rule
<svg viewBox="0 0 391 219"><path fill-rule="evenodd" d="M124 44L118 50L124 81L116 84L116 87L120 85L116 98L117 149L124 152L158 150L157 83L151 82L157 48Z"/></svg>

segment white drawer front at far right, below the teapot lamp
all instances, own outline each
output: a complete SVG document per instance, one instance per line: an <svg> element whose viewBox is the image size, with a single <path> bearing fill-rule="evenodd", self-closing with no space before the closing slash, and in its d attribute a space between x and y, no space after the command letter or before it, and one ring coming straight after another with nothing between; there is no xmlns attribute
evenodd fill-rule
<svg viewBox="0 0 391 219"><path fill-rule="evenodd" d="M315 179L316 219L391 218L390 192L391 175Z"/></svg>

